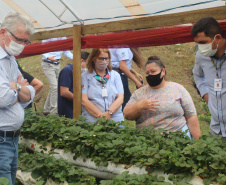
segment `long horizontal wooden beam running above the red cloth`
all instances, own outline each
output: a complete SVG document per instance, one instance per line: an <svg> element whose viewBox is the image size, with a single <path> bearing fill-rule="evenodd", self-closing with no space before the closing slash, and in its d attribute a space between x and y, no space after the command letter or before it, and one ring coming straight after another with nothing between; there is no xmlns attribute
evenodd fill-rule
<svg viewBox="0 0 226 185"><path fill-rule="evenodd" d="M217 20L226 19L226 7L221 6L189 12L180 12L175 14L149 16L123 21L84 25L82 26L82 34L87 35L114 31L141 30L163 26L194 23L205 16L211 16ZM31 37L31 40L42 40L53 37L72 36L72 33L72 28L38 32Z"/></svg>

